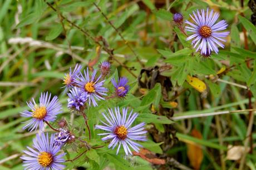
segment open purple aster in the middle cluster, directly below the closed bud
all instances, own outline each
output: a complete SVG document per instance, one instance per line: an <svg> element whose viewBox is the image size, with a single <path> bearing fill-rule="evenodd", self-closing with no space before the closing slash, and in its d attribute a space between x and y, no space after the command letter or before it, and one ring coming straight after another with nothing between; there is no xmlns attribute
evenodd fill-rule
<svg viewBox="0 0 256 170"><path fill-rule="evenodd" d="M83 73L85 74L84 77L81 74L81 77L78 77L76 80L77 86L80 89L82 93L85 93L88 96L89 99L89 105L91 106L91 102L93 106L97 106L96 99L98 101L105 100L102 96L106 96L107 88L104 87L104 82L100 81L101 75L96 78L97 70L95 69L92 73L92 75L89 75L89 71L87 68L87 72L83 70Z"/></svg>

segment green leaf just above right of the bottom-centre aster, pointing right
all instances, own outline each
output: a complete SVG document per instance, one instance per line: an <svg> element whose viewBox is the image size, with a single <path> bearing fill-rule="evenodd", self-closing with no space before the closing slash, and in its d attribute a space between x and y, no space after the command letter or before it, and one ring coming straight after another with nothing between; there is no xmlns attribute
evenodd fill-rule
<svg viewBox="0 0 256 170"><path fill-rule="evenodd" d="M160 123L160 124L172 124L174 123L165 116L158 116L151 113L140 113L137 120L145 123Z"/></svg>

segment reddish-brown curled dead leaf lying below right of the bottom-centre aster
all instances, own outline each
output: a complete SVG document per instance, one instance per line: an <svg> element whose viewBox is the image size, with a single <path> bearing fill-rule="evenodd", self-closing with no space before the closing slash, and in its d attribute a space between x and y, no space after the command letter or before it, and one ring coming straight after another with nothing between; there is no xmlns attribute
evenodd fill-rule
<svg viewBox="0 0 256 170"><path fill-rule="evenodd" d="M134 154L135 156L139 156L152 164L165 164L165 159L157 158L155 154L144 148L140 149L140 152L134 151L132 152L132 154Z"/></svg>

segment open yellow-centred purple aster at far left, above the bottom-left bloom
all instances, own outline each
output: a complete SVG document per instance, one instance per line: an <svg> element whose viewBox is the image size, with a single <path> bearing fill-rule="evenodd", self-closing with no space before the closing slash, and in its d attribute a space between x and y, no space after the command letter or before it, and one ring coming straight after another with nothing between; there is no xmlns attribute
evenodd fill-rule
<svg viewBox="0 0 256 170"><path fill-rule="evenodd" d="M39 105L36 104L35 99L32 98L32 102L27 103L31 111L21 112L22 117L31 117L32 119L27 121L28 123L23 129L29 127L28 131L36 130L39 126L40 132L43 131L43 121L53 122L56 120L57 114L60 114L61 103L58 102L58 97L55 96L51 99L51 93L48 96L48 92L41 93L39 99ZM25 122L26 123L26 122Z"/></svg>

